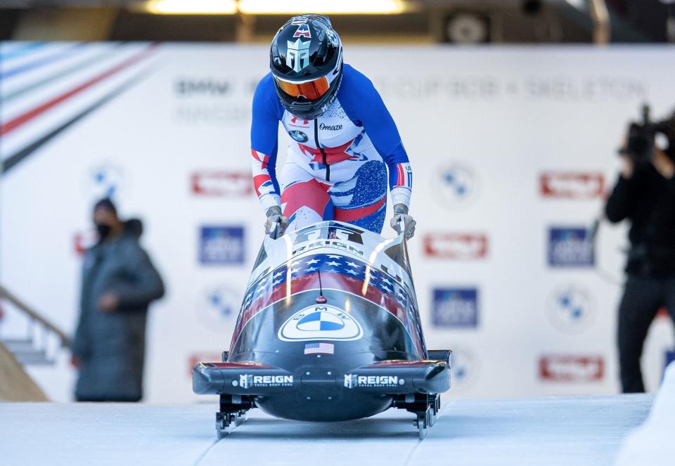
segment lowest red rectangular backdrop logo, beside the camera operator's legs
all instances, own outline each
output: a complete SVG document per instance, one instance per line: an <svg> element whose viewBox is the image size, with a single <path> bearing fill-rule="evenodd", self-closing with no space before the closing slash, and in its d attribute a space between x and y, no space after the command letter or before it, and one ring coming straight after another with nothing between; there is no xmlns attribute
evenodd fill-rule
<svg viewBox="0 0 675 466"><path fill-rule="evenodd" d="M597 382L605 375L600 356L548 355L539 358L539 378L547 382Z"/></svg>

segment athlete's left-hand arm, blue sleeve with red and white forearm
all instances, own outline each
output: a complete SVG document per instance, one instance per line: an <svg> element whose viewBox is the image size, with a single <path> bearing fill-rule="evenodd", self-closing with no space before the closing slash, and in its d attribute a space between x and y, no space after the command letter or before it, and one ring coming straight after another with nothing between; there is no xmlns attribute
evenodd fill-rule
<svg viewBox="0 0 675 466"><path fill-rule="evenodd" d="M251 155L253 186L265 210L280 207L281 193L276 180L276 150L283 108L274 91L271 74L260 80L253 96Z"/></svg>

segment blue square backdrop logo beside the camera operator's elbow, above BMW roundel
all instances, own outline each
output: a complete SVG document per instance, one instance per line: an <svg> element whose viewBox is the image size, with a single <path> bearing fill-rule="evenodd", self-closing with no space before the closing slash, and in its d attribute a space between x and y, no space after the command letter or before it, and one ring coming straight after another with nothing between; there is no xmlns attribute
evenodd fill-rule
<svg viewBox="0 0 675 466"><path fill-rule="evenodd" d="M595 256L589 231L580 227L548 229L548 265L551 267L593 267Z"/></svg>

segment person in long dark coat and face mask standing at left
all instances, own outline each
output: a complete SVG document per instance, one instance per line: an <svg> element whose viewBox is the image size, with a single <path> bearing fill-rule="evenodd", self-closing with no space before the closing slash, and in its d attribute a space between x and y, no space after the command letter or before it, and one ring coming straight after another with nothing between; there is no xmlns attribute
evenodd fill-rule
<svg viewBox="0 0 675 466"><path fill-rule="evenodd" d="M143 396L148 305L164 284L139 245L141 221L122 221L108 199L94 206L100 240L84 256L72 363L77 401L139 401Z"/></svg>

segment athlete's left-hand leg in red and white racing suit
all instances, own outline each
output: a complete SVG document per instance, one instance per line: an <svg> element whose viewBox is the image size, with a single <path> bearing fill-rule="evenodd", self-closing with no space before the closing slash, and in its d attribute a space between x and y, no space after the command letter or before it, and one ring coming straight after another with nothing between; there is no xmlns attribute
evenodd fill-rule
<svg viewBox="0 0 675 466"><path fill-rule="evenodd" d="M333 206L326 193L328 186L293 162L286 162L279 175L281 208L289 224L286 231L296 231L317 221L330 219Z"/></svg>

